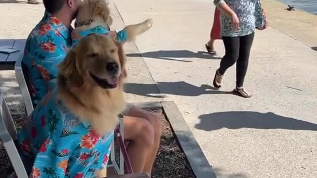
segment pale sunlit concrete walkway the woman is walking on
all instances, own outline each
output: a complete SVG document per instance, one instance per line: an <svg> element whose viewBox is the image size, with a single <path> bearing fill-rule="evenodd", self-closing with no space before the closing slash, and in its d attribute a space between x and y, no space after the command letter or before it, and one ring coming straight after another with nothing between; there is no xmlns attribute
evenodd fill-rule
<svg viewBox="0 0 317 178"><path fill-rule="evenodd" d="M125 24L154 19L136 45L159 92L142 81L128 83L127 92L174 100L218 178L316 177L316 51L271 27L257 31L245 82L254 97L244 99L229 94L235 67L221 90L210 89L224 54L221 41L219 56L201 52L209 40L212 0L114 2Z"/></svg>

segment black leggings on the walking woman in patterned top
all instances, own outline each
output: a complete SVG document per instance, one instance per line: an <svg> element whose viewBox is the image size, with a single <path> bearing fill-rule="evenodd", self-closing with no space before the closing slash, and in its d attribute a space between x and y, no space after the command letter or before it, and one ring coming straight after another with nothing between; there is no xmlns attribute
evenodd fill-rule
<svg viewBox="0 0 317 178"><path fill-rule="evenodd" d="M253 38L254 33L242 37L222 37L226 52L221 59L218 72L223 75L229 67L237 62L236 87L243 87Z"/></svg>

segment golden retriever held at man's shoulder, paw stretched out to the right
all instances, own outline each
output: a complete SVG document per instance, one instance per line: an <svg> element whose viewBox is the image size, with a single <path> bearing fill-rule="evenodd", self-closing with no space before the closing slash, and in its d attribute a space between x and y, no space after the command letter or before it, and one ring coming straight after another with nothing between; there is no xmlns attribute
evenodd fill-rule
<svg viewBox="0 0 317 178"><path fill-rule="evenodd" d="M153 20L128 25L119 32L110 31L112 18L106 0L84 0L78 8L75 29L72 32L73 44L88 34L110 35L111 38L124 43L135 40L136 36L152 27Z"/></svg>

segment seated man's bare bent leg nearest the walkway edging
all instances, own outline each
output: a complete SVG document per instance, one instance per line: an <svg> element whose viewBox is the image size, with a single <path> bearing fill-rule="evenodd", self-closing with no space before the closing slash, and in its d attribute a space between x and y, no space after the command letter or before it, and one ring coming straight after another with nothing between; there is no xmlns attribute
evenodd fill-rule
<svg viewBox="0 0 317 178"><path fill-rule="evenodd" d="M144 171L146 173L149 173L151 175L152 172L152 167L155 161L155 158L157 156L157 152L159 150L159 142L160 142L160 135L161 135L161 122L159 120L159 118L149 112L149 111L145 111L141 108L138 108L136 106L132 106L131 109L129 110L129 112L127 113L128 116L132 116L135 118L143 118L144 120L148 121L148 123L151 124L152 129L154 131L154 137L152 137L153 140L153 144L151 145L151 148L148 152L148 156L147 156L147 161L145 163L145 167L144 167ZM128 120L128 119L125 119ZM126 124L126 122L124 121L124 124ZM130 123L132 124L132 123ZM134 123L134 124L138 124L138 123ZM136 126L131 126L131 128L133 129ZM126 125L124 125L124 128L126 128ZM135 129L133 129L135 132ZM126 130L124 131L124 135L129 136L129 132L126 132ZM141 133L140 133L141 134ZM146 131L143 131L142 134L148 134L146 133ZM139 151L140 153L140 151Z"/></svg>

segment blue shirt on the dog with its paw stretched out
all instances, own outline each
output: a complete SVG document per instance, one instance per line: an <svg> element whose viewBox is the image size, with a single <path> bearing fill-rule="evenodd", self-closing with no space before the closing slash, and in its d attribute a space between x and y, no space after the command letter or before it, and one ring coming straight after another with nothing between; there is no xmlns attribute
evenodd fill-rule
<svg viewBox="0 0 317 178"><path fill-rule="evenodd" d="M105 27L98 25L94 28L80 31L76 34L72 33L72 45L77 45L82 38L90 34L109 35L112 39L117 40L120 43L125 43L127 40L127 32L125 30L121 30L119 32L108 31Z"/></svg>

